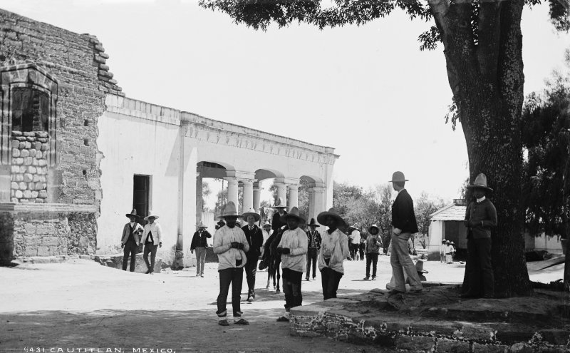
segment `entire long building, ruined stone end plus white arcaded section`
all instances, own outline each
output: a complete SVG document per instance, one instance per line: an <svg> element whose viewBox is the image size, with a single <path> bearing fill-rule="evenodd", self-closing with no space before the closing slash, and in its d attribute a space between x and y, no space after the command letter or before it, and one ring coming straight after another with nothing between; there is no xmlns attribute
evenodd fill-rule
<svg viewBox="0 0 570 353"><path fill-rule="evenodd" d="M275 178L310 217L332 206L334 149L126 98L95 36L0 10L0 260L120 252L125 213L160 215L159 256L192 265L203 178L259 210Z"/></svg>

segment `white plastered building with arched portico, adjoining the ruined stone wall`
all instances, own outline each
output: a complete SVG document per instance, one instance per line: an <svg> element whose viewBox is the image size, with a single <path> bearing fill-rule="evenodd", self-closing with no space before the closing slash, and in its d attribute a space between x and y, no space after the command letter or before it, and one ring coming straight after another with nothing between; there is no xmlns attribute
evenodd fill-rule
<svg viewBox="0 0 570 353"><path fill-rule="evenodd" d="M190 242L202 217L202 178L227 180L228 200L236 205L242 187L244 210L259 212L259 182L269 178L276 178L278 196L289 208L297 206L301 178L309 181L309 218L332 207L333 148L121 96L108 95L105 106L97 139L99 254L118 252L118 233L134 205L143 215L160 215L158 256L193 265Z"/></svg>

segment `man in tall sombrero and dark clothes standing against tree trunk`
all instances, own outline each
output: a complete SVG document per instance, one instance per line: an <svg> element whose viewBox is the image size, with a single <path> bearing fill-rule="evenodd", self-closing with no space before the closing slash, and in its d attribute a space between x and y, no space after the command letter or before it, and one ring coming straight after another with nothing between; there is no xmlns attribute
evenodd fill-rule
<svg viewBox="0 0 570 353"><path fill-rule="evenodd" d="M487 176L477 175L473 185L475 201L472 201L465 212L467 227L467 282L469 288L461 297L492 298L494 297L494 277L491 263L491 228L497 227L497 209L485 194L493 189L487 187Z"/></svg>

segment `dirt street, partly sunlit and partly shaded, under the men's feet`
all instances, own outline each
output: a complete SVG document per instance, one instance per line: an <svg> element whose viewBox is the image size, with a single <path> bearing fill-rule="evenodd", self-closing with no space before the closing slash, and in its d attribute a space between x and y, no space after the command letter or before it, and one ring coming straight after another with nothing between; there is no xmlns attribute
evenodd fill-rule
<svg viewBox="0 0 570 353"><path fill-rule="evenodd" d="M376 281L362 280L363 261L345 264L340 297L385 288L390 280L388 257L380 256ZM425 270L427 280L461 282L465 267L427 262ZM564 267L555 267L530 275L548 282L563 272ZM202 278L195 277L195 267L142 275L71 260L0 267L0 278L0 352L376 351L326 338L291 337L289 324L275 321L284 312L284 295L272 286L265 289L266 272L258 272L255 302L242 302L249 326L229 327L219 326L215 315L217 264L207 264ZM322 300L319 275L302 285L304 305ZM244 279L242 300L245 293Z"/></svg>

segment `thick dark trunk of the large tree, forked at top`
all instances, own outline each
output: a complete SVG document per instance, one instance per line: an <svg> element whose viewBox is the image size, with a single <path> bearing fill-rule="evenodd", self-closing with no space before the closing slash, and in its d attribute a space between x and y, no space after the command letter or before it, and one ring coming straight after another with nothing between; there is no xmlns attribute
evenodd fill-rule
<svg viewBox="0 0 570 353"><path fill-rule="evenodd" d="M521 206L523 6L524 1L517 0L482 1L475 37L469 2L430 1L467 143L470 183L484 173L494 189L488 196L498 218L492 232L497 297L532 293L524 259Z"/></svg>

